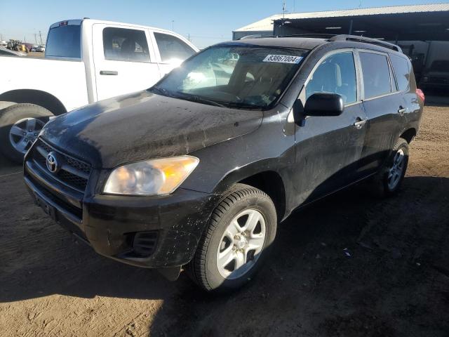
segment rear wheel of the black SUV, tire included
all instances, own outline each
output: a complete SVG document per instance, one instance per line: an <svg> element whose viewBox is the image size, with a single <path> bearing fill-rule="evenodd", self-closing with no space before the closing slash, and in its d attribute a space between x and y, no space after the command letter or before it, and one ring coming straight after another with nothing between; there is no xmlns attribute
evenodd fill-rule
<svg viewBox="0 0 449 337"><path fill-rule="evenodd" d="M400 166L398 164L401 164ZM382 169L374 176L374 192L378 197L391 197L401 188L408 166L408 143L403 138L398 141ZM396 167L396 169L394 169ZM396 177L396 178L394 178Z"/></svg>

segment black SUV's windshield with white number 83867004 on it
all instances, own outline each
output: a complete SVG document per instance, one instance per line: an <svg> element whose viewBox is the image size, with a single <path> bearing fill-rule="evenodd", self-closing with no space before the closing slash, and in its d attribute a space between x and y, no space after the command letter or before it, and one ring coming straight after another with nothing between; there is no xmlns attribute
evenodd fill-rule
<svg viewBox="0 0 449 337"><path fill-rule="evenodd" d="M265 109L286 89L307 52L219 45L190 58L149 90L209 105Z"/></svg>

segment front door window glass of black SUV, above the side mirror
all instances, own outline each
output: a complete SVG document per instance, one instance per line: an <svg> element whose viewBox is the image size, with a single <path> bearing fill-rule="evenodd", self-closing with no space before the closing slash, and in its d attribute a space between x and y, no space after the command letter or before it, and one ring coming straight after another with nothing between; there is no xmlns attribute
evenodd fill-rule
<svg viewBox="0 0 449 337"><path fill-rule="evenodd" d="M356 102L356 67L352 52L333 54L321 62L307 83L306 100L314 93L337 93L345 104Z"/></svg>

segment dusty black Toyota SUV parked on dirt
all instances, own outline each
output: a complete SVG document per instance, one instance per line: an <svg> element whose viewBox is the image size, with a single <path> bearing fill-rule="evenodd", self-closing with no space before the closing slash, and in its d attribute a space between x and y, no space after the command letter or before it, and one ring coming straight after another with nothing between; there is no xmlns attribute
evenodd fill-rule
<svg viewBox="0 0 449 337"><path fill-rule="evenodd" d="M98 253L235 289L298 206L368 177L398 190L423 100L410 60L382 41L229 41L50 121L25 183Z"/></svg>

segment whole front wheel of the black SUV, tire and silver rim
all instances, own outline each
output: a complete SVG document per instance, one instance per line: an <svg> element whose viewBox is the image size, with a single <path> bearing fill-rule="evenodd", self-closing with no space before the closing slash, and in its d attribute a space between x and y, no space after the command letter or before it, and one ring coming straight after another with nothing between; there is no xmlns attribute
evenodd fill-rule
<svg viewBox="0 0 449 337"><path fill-rule="evenodd" d="M253 221L249 221L250 217ZM254 220L257 217L259 220ZM232 227L232 223L235 224L233 220L239 220L239 229L235 225ZM249 185L234 185L210 217L194 258L187 265L189 276L206 291L224 292L240 288L262 265L276 236L276 226L276 208L266 193ZM245 228L250 230L243 235L239 230ZM229 256L234 256L234 259L227 266L219 264L218 254L226 257L229 249ZM243 263L245 258L247 262ZM243 265L236 268L237 263Z"/></svg>

